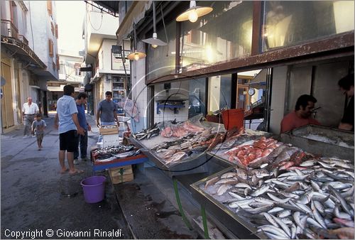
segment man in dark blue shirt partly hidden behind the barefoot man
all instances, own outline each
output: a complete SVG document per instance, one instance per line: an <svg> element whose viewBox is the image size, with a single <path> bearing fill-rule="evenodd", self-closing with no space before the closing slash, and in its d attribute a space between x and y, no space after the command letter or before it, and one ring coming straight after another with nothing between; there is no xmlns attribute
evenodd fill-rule
<svg viewBox="0 0 355 240"><path fill-rule="evenodd" d="M85 130L84 135L78 135L77 147L74 151L74 164L77 164L77 158L79 157L79 146L80 146L80 156L82 160L87 160L87 131L91 131L90 124L87 123L85 116L85 104L87 104L87 94L80 92L75 100L77 104L77 119L80 126Z"/></svg>

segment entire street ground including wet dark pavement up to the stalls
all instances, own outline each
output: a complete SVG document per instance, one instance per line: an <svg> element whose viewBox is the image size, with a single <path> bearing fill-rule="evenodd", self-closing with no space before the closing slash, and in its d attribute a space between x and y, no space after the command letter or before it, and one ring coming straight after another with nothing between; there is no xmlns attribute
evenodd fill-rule
<svg viewBox="0 0 355 240"><path fill-rule="evenodd" d="M16 239L16 234L28 234L23 239L199 238L139 170L135 170L133 181L118 185L111 184L107 171L94 173L89 161L75 165L84 170L82 174L60 174L54 115L44 120L48 126L42 151L37 150L36 138L23 139L23 126L1 135L1 239ZM87 115L87 121L92 125L89 152L96 146L99 131L92 116ZM106 195L102 202L88 204L80 182L92 175L107 178ZM113 231L121 235L110 235Z"/></svg>

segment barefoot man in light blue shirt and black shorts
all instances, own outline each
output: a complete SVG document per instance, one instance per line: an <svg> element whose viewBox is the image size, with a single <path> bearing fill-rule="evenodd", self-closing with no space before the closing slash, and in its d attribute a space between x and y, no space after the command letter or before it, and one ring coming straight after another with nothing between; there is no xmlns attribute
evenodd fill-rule
<svg viewBox="0 0 355 240"><path fill-rule="evenodd" d="M83 173L74 168L74 151L77 147L77 134L84 135L84 129L77 120L77 104L74 99L74 87L67 84L63 88L64 95L57 102L57 114L55 114L54 126L59 132L59 163L60 173L65 173L65 151L69 174ZM59 124L58 124L59 123Z"/></svg>

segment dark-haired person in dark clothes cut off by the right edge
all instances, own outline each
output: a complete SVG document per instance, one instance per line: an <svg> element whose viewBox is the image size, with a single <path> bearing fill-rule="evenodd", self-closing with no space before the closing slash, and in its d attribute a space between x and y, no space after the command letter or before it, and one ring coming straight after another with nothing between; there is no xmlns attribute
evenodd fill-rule
<svg viewBox="0 0 355 240"><path fill-rule="evenodd" d="M338 85L348 100L339 129L354 131L354 73L343 77Z"/></svg>

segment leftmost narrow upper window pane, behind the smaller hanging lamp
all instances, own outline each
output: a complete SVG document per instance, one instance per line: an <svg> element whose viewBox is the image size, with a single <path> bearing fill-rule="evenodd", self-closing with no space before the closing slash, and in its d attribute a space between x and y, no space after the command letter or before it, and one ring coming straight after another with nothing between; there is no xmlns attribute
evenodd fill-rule
<svg viewBox="0 0 355 240"><path fill-rule="evenodd" d="M148 45L148 79L153 80L164 75L175 73L175 36L176 22L172 21L166 25L168 45L152 48ZM158 38L167 42L164 28L157 32ZM151 38L151 36L147 37Z"/></svg>

